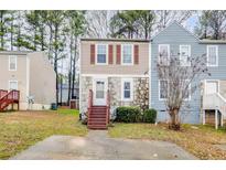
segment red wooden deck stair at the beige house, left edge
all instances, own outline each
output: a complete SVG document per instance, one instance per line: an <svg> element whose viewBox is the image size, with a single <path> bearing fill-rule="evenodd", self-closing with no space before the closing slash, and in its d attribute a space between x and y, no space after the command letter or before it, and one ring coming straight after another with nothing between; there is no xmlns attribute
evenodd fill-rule
<svg viewBox="0 0 226 170"><path fill-rule="evenodd" d="M0 89L0 111L3 111L9 105L12 105L13 108L13 104L17 104L19 109L19 91L13 89L8 93L8 91Z"/></svg>

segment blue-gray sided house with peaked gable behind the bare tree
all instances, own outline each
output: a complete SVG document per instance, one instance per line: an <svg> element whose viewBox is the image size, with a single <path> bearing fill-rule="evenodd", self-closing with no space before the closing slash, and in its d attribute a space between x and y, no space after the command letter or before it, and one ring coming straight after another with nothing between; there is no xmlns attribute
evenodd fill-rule
<svg viewBox="0 0 226 170"><path fill-rule="evenodd" d="M155 70L159 54L164 53L170 57L185 53L193 57L207 55L208 72L212 75L198 81L201 87L190 96L190 108L181 111L182 123L215 123L215 117L222 123L222 114L226 116L226 41L200 40L173 22L151 40L150 47L150 107L158 110L158 121L169 120L164 95L161 94L162 82Z"/></svg>

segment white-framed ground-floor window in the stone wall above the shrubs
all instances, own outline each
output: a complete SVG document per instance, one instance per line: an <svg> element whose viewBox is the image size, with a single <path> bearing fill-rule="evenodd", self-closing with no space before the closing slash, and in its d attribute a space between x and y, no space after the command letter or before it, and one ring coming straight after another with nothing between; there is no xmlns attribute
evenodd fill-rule
<svg viewBox="0 0 226 170"><path fill-rule="evenodd" d="M133 98L133 84L132 78L126 78L121 81L121 99L132 100Z"/></svg>

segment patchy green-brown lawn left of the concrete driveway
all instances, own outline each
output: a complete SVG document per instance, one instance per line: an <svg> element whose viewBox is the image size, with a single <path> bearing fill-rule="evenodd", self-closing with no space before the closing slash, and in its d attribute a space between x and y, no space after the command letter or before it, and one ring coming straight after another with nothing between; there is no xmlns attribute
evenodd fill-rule
<svg viewBox="0 0 226 170"><path fill-rule="evenodd" d="M78 111L72 109L0 113L0 159L8 159L52 135L85 136L87 128L78 117Z"/></svg>

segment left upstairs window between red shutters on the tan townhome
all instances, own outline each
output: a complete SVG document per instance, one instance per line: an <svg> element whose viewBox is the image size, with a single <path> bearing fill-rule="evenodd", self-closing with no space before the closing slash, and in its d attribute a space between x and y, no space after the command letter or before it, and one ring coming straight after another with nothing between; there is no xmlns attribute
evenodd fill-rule
<svg viewBox="0 0 226 170"><path fill-rule="evenodd" d="M97 44L97 64L107 64L107 45L106 44Z"/></svg>

